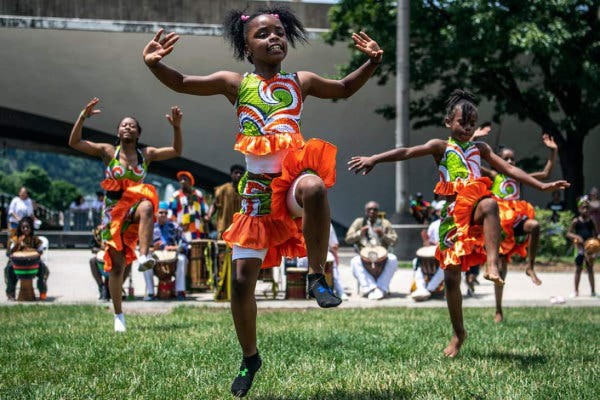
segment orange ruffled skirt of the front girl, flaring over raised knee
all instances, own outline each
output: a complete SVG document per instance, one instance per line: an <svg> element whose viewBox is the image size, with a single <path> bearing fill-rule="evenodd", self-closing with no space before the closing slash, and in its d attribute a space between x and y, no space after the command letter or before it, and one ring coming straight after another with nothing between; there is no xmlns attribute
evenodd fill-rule
<svg viewBox="0 0 600 400"><path fill-rule="evenodd" d="M233 216L233 223L223 233L223 240L230 247L267 249L262 268L279 266L282 257L306 256L302 218L293 218L289 213L286 195L294 180L304 173L319 176L328 188L333 186L336 153L337 148L331 143L310 139L284 157L281 175L272 179L260 176L251 187L249 183L240 185L242 211ZM252 206L257 193L264 197L260 204ZM262 213L257 212L260 208Z"/></svg>

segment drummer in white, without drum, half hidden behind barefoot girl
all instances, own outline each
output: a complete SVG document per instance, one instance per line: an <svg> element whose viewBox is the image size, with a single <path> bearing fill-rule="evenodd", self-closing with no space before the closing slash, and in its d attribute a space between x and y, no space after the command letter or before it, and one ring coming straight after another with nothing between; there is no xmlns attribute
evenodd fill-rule
<svg viewBox="0 0 600 400"><path fill-rule="evenodd" d="M414 301L424 301L429 299L431 297L431 293L435 292L440 284L444 281L444 271L439 268L439 266L436 268L436 271L433 275L426 276L423 274L420 257L435 259L435 246L437 246L440 241L439 230L440 222L442 221L440 219L440 214L445 204L445 200L441 200L435 204L433 210L435 219L427 228L427 241L423 243L424 247L417 250L417 257L413 259L414 285L416 286L416 289L414 292L412 292L410 297ZM427 254L428 251L432 251L432 253ZM426 278L428 279L427 282Z"/></svg>

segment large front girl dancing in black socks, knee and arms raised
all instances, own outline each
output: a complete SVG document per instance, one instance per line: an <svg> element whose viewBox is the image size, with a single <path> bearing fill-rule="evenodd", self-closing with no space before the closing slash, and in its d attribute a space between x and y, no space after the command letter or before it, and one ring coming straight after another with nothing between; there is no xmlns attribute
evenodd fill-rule
<svg viewBox="0 0 600 400"><path fill-rule="evenodd" d="M354 34L356 48L370 59L345 78L331 80L312 72L281 70L288 45L307 41L302 23L287 8L266 7L251 15L231 11L224 31L235 57L246 58L254 72L183 75L161 62L179 39L175 33L161 38L162 30L143 56L169 88L200 96L220 94L237 110L235 149L245 155L247 173L238 186L242 211L223 239L233 247L235 260L231 311L244 358L231 390L241 397L250 390L262 364L256 347L254 298L261 267L279 265L282 256L306 254L309 294L321 307L341 302L323 275L330 223L327 188L335 182L336 148L317 139L305 142L300 114L307 96L337 99L354 94L381 63L383 51L365 33Z"/></svg>

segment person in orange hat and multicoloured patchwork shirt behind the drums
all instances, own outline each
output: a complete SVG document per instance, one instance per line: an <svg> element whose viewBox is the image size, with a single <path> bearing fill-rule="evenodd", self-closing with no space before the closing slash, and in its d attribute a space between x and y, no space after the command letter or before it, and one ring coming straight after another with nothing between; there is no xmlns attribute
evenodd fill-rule
<svg viewBox="0 0 600 400"><path fill-rule="evenodd" d="M207 219L208 207L204 201L204 195L199 189L194 188L195 181L191 172L179 171L177 180L181 187L173 193L169 202L172 219L189 236L188 239L205 237L204 224Z"/></svg>

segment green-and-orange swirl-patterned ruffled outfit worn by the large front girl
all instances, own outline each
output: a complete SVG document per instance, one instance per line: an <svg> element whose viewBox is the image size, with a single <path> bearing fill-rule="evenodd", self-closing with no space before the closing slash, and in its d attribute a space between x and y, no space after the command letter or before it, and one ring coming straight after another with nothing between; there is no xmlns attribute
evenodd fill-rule
<svg viewBox="0 0 600 400"><path fill-rule="evenodd" d="M236 109L234 149L245 155L247 172L238 185L242 209L223 239L229 246L268 249L262 267L278 266L282 256L306 255L301 218L293 218L286 206L290 186L305 173L333 186L337 149L319 139L304 141L302 92L295 73L282 71L271 79L245 74Z"/></svg>

